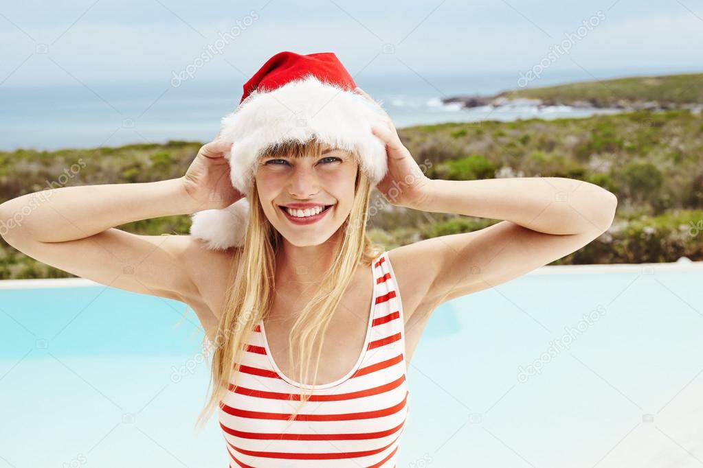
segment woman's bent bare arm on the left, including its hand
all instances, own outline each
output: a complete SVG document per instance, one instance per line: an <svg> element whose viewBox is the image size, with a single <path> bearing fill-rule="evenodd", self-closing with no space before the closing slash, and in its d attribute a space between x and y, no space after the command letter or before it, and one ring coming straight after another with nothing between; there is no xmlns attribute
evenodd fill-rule
<svg viewBox="0 0 703 468"><path fill-rule="evenodd" d="M136 293L200 301L196 280L208 255L187 235L143 236L127 222L221 208L240 194L228 181L226 145L203 145L181 178L62 187L0 205L0 234L32 258L77 276ZM202 318L201 318L202 319Z"/></svg>

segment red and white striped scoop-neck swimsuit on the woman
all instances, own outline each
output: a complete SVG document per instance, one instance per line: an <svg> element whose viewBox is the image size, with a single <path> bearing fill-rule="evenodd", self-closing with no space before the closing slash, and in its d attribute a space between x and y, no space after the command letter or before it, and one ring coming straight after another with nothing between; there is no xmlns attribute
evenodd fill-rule
<svg viewBox="0 0 703 468"><path fill-rule="evenodd" d="M410 414L403 309L388 252L371 264L373 300L354 368L318 385L295 420L300 385L271 357L263 321L250 334L238 387L221 400L229 467L394 468Z"/></svg>

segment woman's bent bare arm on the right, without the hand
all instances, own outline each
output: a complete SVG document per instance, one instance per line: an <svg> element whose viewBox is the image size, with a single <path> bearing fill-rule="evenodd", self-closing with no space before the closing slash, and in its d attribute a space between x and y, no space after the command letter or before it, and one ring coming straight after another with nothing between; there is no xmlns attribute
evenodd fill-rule
<svg viewBox="0 0 703 468"><path fill-rule="evenodd" d="M610 227L617 198L567 178L432 180L413 208L504 220L475 232L397 248L399 263L425 265L434 305L526 274Z"/></svg>

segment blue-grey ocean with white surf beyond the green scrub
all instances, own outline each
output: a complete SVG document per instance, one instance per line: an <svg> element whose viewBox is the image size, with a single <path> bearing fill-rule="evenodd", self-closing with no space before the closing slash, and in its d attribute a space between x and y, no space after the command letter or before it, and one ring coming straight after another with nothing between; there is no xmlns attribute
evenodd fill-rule
<svg viewBox="0 0 703 468"><path fill-rule="evenodd" d="M599 78L627 75L611 70ZM406 74L354 76L356 83L382 102L396 127L451 121L509 121L583 117L589 109L517 105L460 109L443 105L453 95L490 95L517 88L515 74ZM583 81L581 70L552 72L532 85ZM175 86L174 86L175 85ZM70 86L11 88L0 86L0 150L53 150L162 143L208 142L217 135L222 116L236 108L243 80L202 79L173 83L76 83ZM608 112L604 110L602 112Z"/></svg>

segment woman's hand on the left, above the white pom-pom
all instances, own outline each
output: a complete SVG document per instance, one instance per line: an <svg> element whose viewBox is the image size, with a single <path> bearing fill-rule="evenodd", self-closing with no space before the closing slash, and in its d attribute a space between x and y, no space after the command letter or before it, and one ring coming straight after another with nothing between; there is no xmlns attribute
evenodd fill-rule
<svg viewBox="0 0 703 468"><path fill-rule="evenodd" d="M218 138L202 145L181 178L188 195L198 203L198 211L226 208L245 196L230 179L229 161L224 155L231 148L232 143Z"/></svg>

